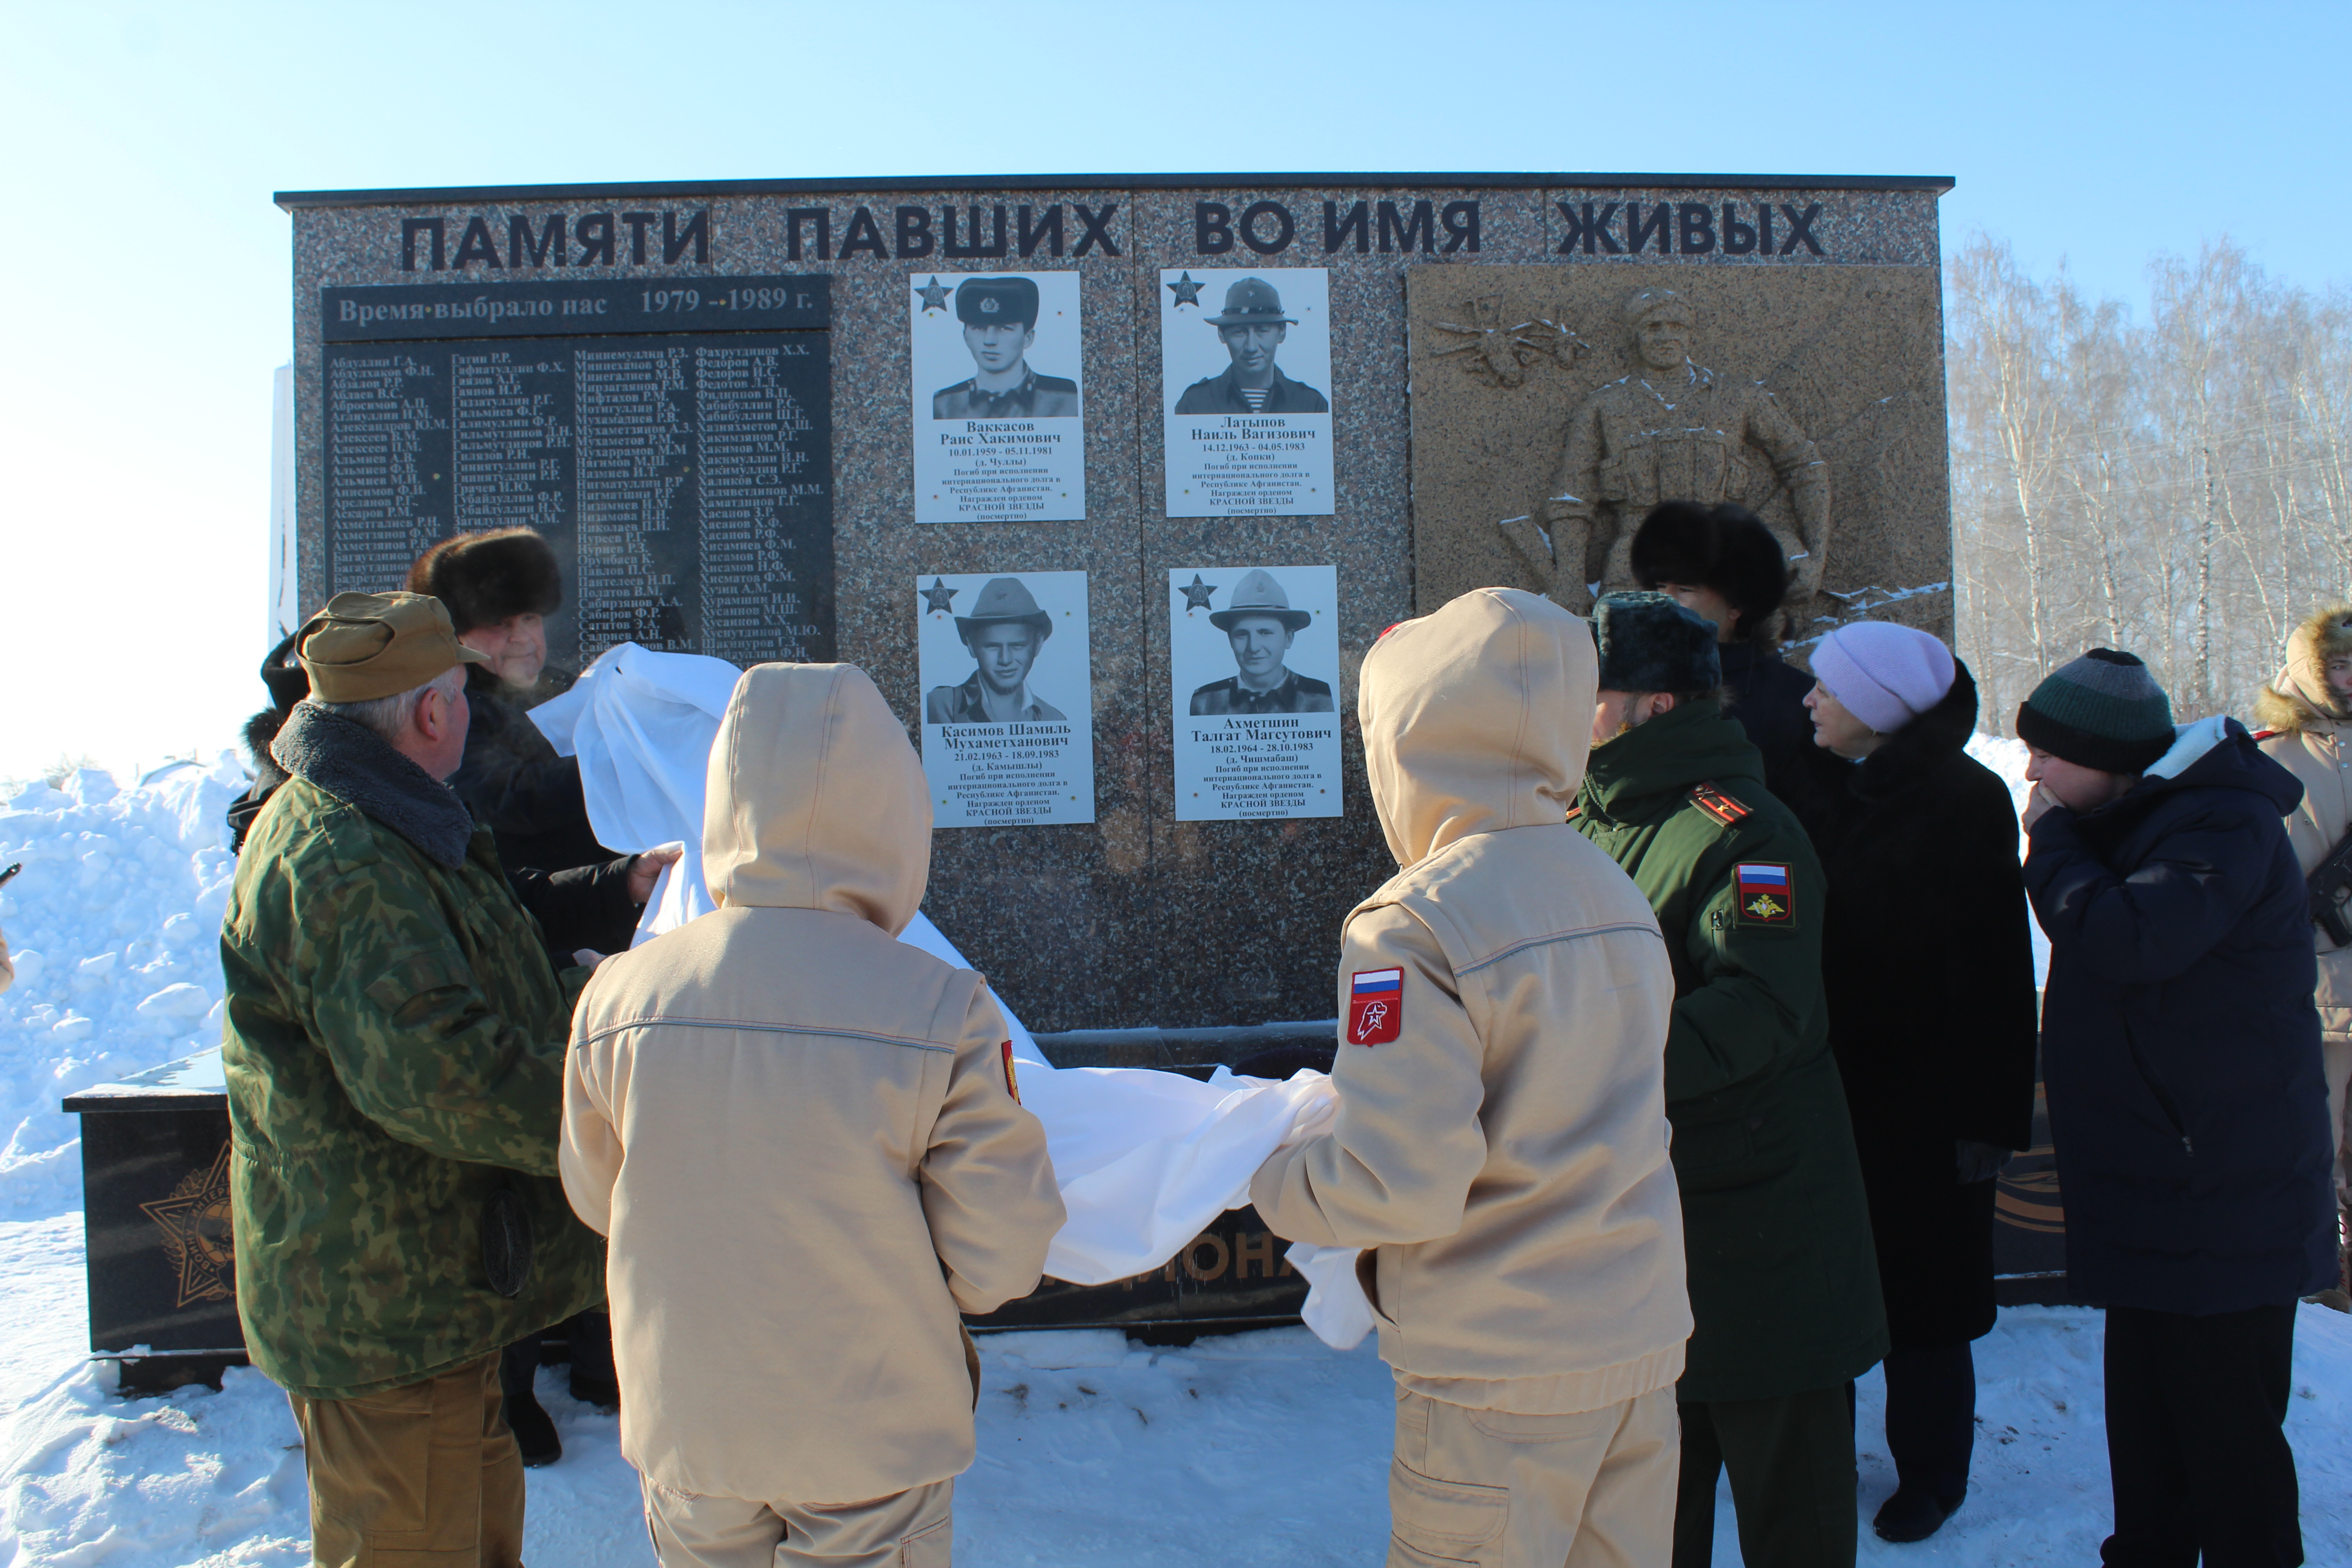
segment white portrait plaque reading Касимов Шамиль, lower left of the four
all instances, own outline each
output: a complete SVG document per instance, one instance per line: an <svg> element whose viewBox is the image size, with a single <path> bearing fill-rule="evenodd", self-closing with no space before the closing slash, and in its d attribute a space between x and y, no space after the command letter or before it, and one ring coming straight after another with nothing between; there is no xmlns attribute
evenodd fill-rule
<svg viewBox="0 0 2352 1568"><path fill-rule="evenodd" d="M1087 574L915 578L936 827L1094 820Z"/></svg>

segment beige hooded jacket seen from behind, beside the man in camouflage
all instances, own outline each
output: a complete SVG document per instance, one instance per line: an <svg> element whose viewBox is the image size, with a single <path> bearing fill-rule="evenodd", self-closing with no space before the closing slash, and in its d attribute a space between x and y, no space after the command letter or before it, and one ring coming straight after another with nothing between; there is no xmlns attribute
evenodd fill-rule
<svg viewBox="0 0 2352 1568"><path fill-rule="evenodd" d="M861 1502L971 1465L957 1309L1028 1293L1063 1208L981 976L894 940L929 860L866 672L755 665L710 748L717 910L581 997L562 1178L659 1486Z"/></svg>

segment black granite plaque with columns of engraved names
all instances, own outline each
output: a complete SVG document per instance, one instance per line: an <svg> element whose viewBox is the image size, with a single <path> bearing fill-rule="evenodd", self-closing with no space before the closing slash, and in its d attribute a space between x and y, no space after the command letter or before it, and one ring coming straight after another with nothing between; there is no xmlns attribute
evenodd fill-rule
<svg viewBox="0 0 2352 1568"><path fill-rule="evenodd" d="M327 590L400 588L433 543L527 524L564 574L548 618L557 665L616 642L739 665L830 661L830 334L727 331L748 317L724 313L710 329L708 294L739 282L797 294L823 280L666 280L703 294L701 313L623 317L630 329L612 334L574 317L564 336L520 341L327 343ZM619 287L494 284L452 303ZM350 296L459 292L325 294L332 327ZM823 306L814 289L800 320L823 322Z"/></svg>

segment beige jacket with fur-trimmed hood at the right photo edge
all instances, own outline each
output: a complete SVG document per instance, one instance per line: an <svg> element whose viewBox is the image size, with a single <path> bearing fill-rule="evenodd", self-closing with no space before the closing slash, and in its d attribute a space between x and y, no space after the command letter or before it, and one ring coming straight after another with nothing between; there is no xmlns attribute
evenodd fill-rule
<svg viewBox="0 0 2352 1568"><path fill-rule="evenodd" d="M2326 860L2352 827L2352 705L2328 691L2328 661L2352 656L2352 604L2331 604L2286 639L2286 665L2253 698L2270 731L2263 752L2303 780L2303 804L2286 837L2305 875ZM2352 947L2312 926L2319 947L2319 1025L2352 1034Z"/></svg>

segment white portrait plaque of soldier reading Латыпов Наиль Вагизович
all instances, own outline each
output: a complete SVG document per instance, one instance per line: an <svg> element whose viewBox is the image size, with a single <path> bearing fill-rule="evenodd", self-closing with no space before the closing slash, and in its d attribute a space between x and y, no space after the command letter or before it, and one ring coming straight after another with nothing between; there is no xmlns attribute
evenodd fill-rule
<svg viewBox="0 0 2352 1568"><path fill-rule="evenodd" d="M1331 512L1331 273L1160 273L1169 517Z"/></svg>

